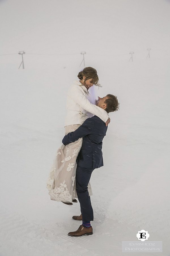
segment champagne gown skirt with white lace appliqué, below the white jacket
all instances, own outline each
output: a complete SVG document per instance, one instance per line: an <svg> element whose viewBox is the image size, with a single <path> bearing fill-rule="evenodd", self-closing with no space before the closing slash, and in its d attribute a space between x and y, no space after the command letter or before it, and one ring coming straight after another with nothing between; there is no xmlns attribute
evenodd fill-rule
<svg viewBox="0 0 170 256"><path fill-rule="evenodd" d="M65 135L75 131L80 124L65 126ZM72 202L76 194L76 158L82 146L82 138L68 145L61 145L56 152L56 157L50 171L47 189L51 200ZM89 196L92 195L90 182L88 184Z"/></svg>

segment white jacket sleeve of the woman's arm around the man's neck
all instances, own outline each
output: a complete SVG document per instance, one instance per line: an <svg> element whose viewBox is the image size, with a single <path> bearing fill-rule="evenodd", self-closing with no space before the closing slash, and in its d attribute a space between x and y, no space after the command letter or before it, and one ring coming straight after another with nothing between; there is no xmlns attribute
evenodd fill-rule
<svg viewBox="0 0 170 256"><path fill-rule="evenodd" d="M84 93L81 91L78 86L74 86L69 91L69 96L78 103L84 110L92 113L93 115L97 115L103 122L106 122L109 118L108 113L96 105L90 103L90 101L86 98Z"/></svg>

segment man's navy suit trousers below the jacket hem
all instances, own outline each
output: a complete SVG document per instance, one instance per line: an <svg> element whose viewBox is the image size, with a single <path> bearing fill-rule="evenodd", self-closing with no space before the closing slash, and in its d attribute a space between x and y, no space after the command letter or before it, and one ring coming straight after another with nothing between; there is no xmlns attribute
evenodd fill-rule
<svg viewBox="0 0 170 256"><path fill-rule="evenodd" d="M76 169L76 192L80 203L82 213L82 221L90 222L93 220L93 208L91 205L90 196L88 193L88 183L94 169L83 168L77 166Z"/></svg>

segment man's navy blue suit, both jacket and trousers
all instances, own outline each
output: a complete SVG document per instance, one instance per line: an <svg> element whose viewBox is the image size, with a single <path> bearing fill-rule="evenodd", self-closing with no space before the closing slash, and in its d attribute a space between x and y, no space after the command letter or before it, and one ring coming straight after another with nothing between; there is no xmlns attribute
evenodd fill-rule
<svg viewBox="0 0 170 256"><path fill-rule="evenodd" d="M84 222L90 222L94 219L88 183L93 170L103 166L101 150L106 131L105 123L99 117L93 116L86 119L74 132L65 135L62 140L62 143L67 145L83 137L82 147L76 160L76 192Z"/></svg>

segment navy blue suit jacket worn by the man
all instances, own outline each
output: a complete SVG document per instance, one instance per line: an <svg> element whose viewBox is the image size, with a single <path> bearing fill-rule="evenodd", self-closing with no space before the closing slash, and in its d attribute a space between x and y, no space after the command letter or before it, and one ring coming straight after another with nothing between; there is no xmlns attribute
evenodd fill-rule
<svg viewBox="0 0 170 256"><path fill-rule="evenodd" d="M96 115L86 119L74 132L64 136L62 143L67 145L83 137L82 147L77 157L77 165L96 169L103 166L102 141L107 126Z"/></svg>

